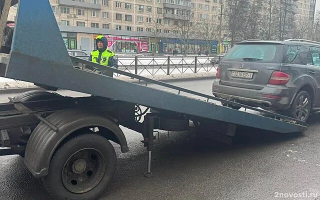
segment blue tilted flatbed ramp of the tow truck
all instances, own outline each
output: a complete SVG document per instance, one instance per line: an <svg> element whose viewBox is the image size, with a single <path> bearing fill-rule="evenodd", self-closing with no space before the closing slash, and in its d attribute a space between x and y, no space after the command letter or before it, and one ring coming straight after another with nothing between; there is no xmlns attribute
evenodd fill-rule
<svg viewBox="0 0 320 200"><path fill-rule="evenodd" d="M72 60L103 69L99 64L75 57L70 58L48 0L20 0L19 4L5 77L282 133L299 132L307 128L303 121L244 105L241 106L265 112L274 118L220 106L210 101L233 102L122 70L104 68L110 74L115 72L159 84L175 89L177 93L74 67ZM207 100L183 96L181 92L201 96Z"/></svg>

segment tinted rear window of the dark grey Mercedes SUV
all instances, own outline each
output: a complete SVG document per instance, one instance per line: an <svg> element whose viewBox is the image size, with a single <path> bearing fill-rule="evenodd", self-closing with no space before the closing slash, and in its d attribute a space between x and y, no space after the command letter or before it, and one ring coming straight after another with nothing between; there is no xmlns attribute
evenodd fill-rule
<svg viewBox="0 0 320 200"><path fill-rule="evenodd" d="M281 62L283 44L243 43L235 44L223 57L224 60L252 60L260 62Z"/></svg>

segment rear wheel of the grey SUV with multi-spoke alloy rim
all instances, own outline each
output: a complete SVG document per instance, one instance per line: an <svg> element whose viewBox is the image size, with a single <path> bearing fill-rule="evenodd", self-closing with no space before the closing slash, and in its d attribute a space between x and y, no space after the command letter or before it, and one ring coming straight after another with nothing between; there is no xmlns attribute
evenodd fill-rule
<svg viewBox="0 0 320 200"><path fill-rule="evenodd" d="M288 110L289 116L306 121L311 113L311 97L307 91L298 91Z"/></svg>

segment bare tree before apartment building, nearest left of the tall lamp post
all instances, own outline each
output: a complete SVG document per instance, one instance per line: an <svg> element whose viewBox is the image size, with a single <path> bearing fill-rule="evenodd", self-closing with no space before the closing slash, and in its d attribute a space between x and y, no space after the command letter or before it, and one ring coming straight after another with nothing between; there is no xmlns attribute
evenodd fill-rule
<svg viewBox="0 0 320 200"><path fill-rule="evenodd" d="M213 40L218 38L219 26L218 22L212 19L201 19L198 22L198 32L196 33L199 39L205 41L208 49L212 48Z"/></svg>

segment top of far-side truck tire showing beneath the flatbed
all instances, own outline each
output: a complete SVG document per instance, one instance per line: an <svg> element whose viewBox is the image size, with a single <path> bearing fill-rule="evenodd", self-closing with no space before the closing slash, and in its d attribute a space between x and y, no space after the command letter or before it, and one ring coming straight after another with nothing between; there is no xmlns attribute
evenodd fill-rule
<svg viewBox="0 0 320 200"><path fill-rule="evenodd" d="M22 93L19 93L13 97L16 101L26 102L26 101L32 101L32 100L47 100L47 99L54 99L54 98L61 98L61 96L58 93L55 92L48 92L48 91L42 91L42 90L30 90L25 91Z"/></svg>

